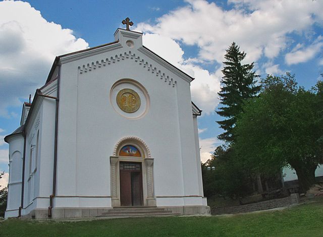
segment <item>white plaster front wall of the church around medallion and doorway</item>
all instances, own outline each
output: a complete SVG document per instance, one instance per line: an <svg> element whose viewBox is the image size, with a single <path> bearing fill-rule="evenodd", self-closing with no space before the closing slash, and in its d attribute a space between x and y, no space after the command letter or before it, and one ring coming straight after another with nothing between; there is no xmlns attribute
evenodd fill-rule
<svg viewBox="0 0 323 237"><path fill-rule="evenodd" d="M188 82L139 51L136 55L175 79L176 86L131 58L78 74L79 66L135 48L115 49L62 65L58 196L109 197L109 157L116 143L126 136L139 137L150 149L155 196L201 195ZM124 78L141 83L149 93L150 108L138 120L120 116L111 105L111 87Z"/></svg>

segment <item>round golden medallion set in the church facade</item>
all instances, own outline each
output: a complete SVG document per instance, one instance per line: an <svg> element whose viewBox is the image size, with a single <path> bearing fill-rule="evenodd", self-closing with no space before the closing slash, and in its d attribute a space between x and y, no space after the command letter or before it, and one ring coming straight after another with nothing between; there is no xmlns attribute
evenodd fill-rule
<svg viewBox="0 0 323 237"><path fill-rule="evenodd" d="M133 113L140 107L140 97L132 89L122 89L117 94L117 104L123 111Z"/></svg>

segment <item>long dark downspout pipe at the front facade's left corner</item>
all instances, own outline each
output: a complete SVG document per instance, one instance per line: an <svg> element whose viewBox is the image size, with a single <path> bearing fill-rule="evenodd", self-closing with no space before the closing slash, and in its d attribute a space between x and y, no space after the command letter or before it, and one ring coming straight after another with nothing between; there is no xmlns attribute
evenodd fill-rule
<svg viewBox="0 0 323 237"><path fill-rule="evenodd" d="M59 98L60 98L60 78L61 66L58 66L58 79L57 79L57 97L56 110L55 110L55 139L54 139L54 161L53 161L53 176L52 176L52 194L49 196L48 217L52 216L53 198L56 195L56 173L57 173L57 148L58 148L58 121L59 121Z"/></svg>

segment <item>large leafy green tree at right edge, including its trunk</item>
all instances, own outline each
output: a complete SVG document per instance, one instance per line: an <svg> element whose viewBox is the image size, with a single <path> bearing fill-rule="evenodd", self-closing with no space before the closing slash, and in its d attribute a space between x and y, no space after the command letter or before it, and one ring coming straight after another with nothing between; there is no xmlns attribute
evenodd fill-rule
<svg viewBox="0 0 323 237"><path fill-rule="evenodd" d="M287 73L268 75L261 86L238 116L234 149L255 172L274 174L291 166L305 192L323 163L322 82L306 91Z"/></svg>

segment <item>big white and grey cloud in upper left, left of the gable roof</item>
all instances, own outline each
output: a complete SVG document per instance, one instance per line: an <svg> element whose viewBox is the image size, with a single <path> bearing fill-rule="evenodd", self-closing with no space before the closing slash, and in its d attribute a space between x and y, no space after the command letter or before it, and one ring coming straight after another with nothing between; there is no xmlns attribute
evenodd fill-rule
<svg viewBox="0 0 323 237"><path fill-rule="evenodd" d="M55 56L86 47L72 30L47 22L29 3L0 2L0 116L12 116L8 106L21 106L19 98L45 83Z"/></svg>

